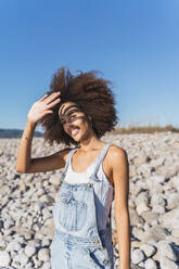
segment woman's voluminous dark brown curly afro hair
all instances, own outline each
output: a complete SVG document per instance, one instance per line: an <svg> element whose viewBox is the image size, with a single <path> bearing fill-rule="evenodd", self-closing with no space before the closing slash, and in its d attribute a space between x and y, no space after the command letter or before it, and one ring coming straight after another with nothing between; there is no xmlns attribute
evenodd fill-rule
<svg viewBox="0 0 179 269"><path fill-rule="evenodd" d="M59 108L65 102L76 103L85 114L91 116L92 128L98 138L113 130L117 124L117 115L111 85L108 80L98 78L95 71L87 73L79 71L78 75L73 76L68 68L57 69L47 93L61 91L61 102L52 108L52 114L40 121L44 129L44 140L50 144L54 141L66 145L78 144L64 131L59 119Z"/></svg>

